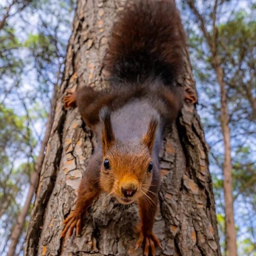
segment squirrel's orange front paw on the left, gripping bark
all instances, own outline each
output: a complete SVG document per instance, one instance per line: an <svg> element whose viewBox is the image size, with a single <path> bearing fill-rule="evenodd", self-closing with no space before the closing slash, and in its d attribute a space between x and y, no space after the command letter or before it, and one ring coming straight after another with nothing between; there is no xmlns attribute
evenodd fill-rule
<svg viewBox="0 0 256 256"><path fill-rule="evenodd" d="M68 236L72 236L73 230L76 227L76 236L79 236L81 232L81 213L75 211L70 212L68 217L63 221L64 230L61 233L61 238L66 236L67 231L69 230Z"/></svg>

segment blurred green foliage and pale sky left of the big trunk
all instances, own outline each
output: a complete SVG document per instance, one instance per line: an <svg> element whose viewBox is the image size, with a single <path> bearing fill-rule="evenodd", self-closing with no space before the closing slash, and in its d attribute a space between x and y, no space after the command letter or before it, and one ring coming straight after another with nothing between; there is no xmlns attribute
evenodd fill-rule
<svg viewBox="0 0 256 256"><path fill-rule="evenodd" d="M0 21L9 3L0 3ZM35 170L49 102L61 81L57 73L64 66L74 4L15 0L0 27L0 255L6 255ZM22 255L28 221L29 216L17 255Z"/></svg>

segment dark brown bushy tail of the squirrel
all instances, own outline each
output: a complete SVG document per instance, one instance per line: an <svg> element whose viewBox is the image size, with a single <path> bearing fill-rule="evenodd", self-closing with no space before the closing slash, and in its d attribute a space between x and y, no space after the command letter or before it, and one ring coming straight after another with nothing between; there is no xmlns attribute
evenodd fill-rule
<svg viewBox="0 0 256 256"><path fill-rule="evenodd" d="M113 27L105 59L111 78L143 82L159 77L171 84L183 68L182 25L172 0L128 2Z"/></svg>

